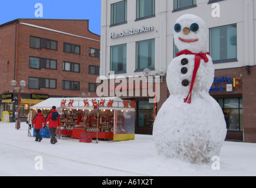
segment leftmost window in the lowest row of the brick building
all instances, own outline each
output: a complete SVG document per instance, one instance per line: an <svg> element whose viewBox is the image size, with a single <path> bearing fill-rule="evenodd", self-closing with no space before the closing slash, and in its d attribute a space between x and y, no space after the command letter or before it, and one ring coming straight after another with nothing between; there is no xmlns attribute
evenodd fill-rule
<svg viewBox="0 0 256 188"><path fill-rule="evenodd" d="M50 88L56 89L56 79L48 78L28 78L28 89L40 89L40 88Z"/></svg>

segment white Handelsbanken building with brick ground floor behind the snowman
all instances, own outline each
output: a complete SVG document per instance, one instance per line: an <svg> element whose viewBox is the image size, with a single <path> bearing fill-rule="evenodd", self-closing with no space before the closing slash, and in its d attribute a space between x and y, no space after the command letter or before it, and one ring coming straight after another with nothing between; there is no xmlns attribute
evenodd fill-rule
<svg viewBox="0 0 256 188"><path fill-rule="evenodd" d="M210 94L227 115L227 137L256 142L255 9L254 0L103 0L100 75L129 78L143 76L146 68L167 70L178 52L173 43L175 21L183 14L195 14L209 28L208 51L216 76ZM239 86L234 87L234 79ZM232 84L231 90L227 84ZM165 77L160 88L157 110L169 96ZM145 111L152 105L142 97L133 99L137 101L137 133L150 133L153 125L144 124L151 113Z"/></svg>

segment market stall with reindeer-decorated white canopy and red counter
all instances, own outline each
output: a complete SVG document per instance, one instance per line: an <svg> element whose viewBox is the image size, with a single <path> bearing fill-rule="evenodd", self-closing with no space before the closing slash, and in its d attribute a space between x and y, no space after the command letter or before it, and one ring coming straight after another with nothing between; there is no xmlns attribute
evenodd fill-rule
<svg viewBox="0 0 256 188"><path fill-rule="evenodd" d="M44 115L56 106L61 118L59 136L80 139L80 134L104 140L134 139L135 103L133 100L110 98L49 98L36 109L46 110Z"/></svg>

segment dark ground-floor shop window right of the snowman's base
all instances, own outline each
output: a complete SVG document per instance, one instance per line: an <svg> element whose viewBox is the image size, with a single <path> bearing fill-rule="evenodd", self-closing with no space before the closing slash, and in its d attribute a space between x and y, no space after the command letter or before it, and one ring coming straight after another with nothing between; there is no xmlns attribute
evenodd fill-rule
<svg viewBox="0 0 256 188"><path fill-rule="evenodd" d="M221 106L227 130L242 131L242 98L216 99Z"/></svg>

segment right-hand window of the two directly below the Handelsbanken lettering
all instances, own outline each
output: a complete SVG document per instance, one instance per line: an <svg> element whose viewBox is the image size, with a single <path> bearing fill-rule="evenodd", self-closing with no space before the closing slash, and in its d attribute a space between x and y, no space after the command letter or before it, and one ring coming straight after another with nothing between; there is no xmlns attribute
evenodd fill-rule
<svg viewBox="0 0 256 188"><path fill-rule="evenodd" d="M136 69L155 68L155 39L136 42Z"/></svg>

